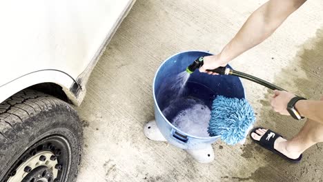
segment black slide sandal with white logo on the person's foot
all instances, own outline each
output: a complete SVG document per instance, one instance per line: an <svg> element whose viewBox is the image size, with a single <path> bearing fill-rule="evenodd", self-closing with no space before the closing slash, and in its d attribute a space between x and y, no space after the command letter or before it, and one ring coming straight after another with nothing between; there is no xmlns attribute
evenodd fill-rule
<svg viewBox="0 0 323 182"><path fill-rule="evenodd" d="M255 132L255 131L258 129L264 129L264 128L262 128L262 127L253 128L253 130L251 130L251 132L250 132L250 137L255 143L258 143L263 148L266 148L266 150L269 150L275 154L278 154L279 156L281 156L282 158L286 159L287 161L289 161L291 163L300 163L300 161L302 160L302 154L300 154L300 156L297 159L291 159L291 158L288 158L287 156L285 156L284 154L282 154L281 152L275 150L274 143L275 143L276 139L282 135L277 134L276 132L273 132L272 130L267 130L267 132L260 138L260 141L256 141L255 139L253 139L253 136L251 136L251 134L253 132L255 134L257 134L257 132Z"/></svg>

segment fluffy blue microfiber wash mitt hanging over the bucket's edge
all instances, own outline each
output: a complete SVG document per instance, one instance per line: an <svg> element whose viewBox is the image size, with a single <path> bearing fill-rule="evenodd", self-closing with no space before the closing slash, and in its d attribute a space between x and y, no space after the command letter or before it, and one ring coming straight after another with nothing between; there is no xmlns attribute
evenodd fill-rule
<svg viewBox="0 0 323 182"><path fill-rule="evenodd" d="M246 138L246 132L255 122L255 113L246 99L217 96L213 101L210 136L221 135L221 140L235 145Z"/></svg>

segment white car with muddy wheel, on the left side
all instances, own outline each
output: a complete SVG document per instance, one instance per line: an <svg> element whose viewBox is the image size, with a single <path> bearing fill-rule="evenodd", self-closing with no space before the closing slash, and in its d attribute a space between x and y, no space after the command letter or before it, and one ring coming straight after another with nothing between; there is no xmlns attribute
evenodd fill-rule
<svg viewBox="0 0 323 182"><path fill-rule="evenodd" d="M82 128L72 105L133 0L0 6L0 181L75 181Z"/></svg>

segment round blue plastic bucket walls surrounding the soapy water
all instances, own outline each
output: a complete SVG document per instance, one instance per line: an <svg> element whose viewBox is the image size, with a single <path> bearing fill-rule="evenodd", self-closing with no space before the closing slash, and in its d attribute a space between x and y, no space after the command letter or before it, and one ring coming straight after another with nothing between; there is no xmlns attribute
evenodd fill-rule
<svg viewBox="0 0 323 182"><path fill-rule="evenodd" d="M173 96L174 93L164 89L163 85L165 85L167 81L170 81L170 79L174 79L174 77L176 77L180 72L183 72L186 67L198 57L205 57L209 55L212 54L202 51L188 51L175 54L166 59L164 63L161 63L155 74L153 81L153 95L155 101L155 120L157 127L165 139L178 148L202 149L206 148L208 145L211 145L211 143L214 143L220 138L220 136L193 136L192 134L183 132L176 128L175 125L170 123L170 121L168 121L168 119L161 112L165 107L167 107L170 100L175 99L170 97ZM227 65L227 67L231 68L230 65ZM204 85L206 88L211 90L211 92L213 92L213 99L217 95L223 95L224 97L231 98L235 97L238 99L245 98L244 87L238 77L228 75L212 76L200 73L198 70L196 70L190 75L187 83L199 83ZM195 90L195 92L199 92L199 90ZM199 95L205 97L203 93L199 93ZM210 101L210 103L212 103L212 101ZM210 103L208 103L208 108L211 109Z"/></svg>

